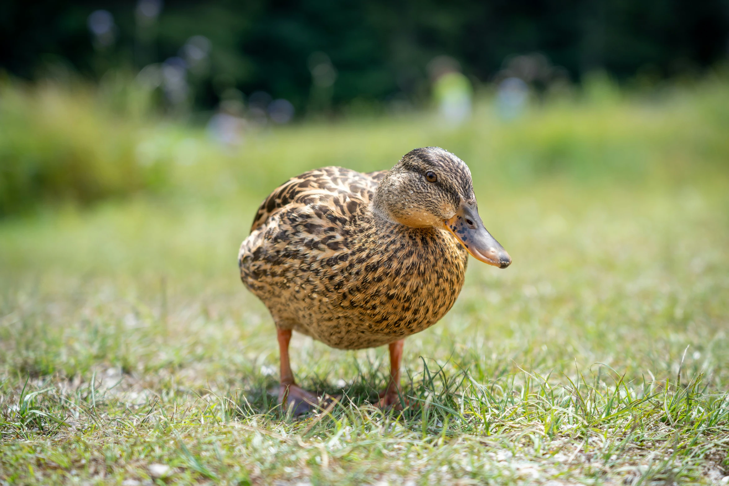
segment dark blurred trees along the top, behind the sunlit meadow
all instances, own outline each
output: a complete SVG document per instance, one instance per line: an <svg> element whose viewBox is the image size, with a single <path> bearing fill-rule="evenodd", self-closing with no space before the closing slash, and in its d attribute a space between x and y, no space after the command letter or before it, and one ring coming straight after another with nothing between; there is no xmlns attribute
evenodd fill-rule
<svg viewBox="0 0 729 486"><path fill-rule="evenodd" d="M177 95L198 109L263 91L301 111L418 104L438 55L480 82L529 52L573 81L698 74L728 55L729 0L7 0L0 40L15 77L152 66L147 82L174 97L184 77Z"/></svg>

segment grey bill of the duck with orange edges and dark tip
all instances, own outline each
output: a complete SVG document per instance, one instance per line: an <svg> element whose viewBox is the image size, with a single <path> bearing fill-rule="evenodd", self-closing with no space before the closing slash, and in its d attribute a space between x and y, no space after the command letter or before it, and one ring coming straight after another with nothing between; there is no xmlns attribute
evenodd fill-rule
<svg viewBox="0 0 729 486"><path fill-rule="evenodd" d="M461 205L451 219L443 220L443 225L475 259L499 268L511 264L511 257L504 247L483 226L476 205Z"/></svg>

